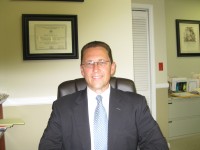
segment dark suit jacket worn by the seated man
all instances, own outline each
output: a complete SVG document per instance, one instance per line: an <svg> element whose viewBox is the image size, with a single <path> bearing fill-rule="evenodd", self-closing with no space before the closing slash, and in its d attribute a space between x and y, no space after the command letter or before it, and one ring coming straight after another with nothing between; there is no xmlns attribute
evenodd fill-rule
<svg viewBox="0 0 200 150"><path fill-rule="evenodd" d="M76 92L53 103L39 150L90 150L87 92ZM110 93L108 150L168 150L145 97L112 89Z"/></svg>

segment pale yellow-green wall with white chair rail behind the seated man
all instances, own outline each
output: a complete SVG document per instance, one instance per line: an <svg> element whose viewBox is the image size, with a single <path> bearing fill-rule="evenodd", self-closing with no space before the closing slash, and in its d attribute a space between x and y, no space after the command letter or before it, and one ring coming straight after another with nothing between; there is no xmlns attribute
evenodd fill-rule
<svg viewBox="0 0 200 150"><path fill-rule="evenodd" d="M156 84L166 84L164 0L132 2L153 6ZM8 105L4 106L4 117L22 118L26 123L7 130L5 133L7 150L37 149L51 112L51 102L55 100L57 94L58 84L81 77L77 67L80 64L79 59L23 61L21 15L77 14L79 51L91 40L108 42L117 63L115 75L133 79L131 5L131 0L85 0L83 3L0 1L0 91L10 94ZM124 67L124 62L129 67ZM164 71L158 71L159 62L164 63ZM163 94L166 91L167 87L157 90L157 108L162 108L158 109L157 118L167 137L167 124L165 124L167 95ZM47 104L45 104L46 99L49 99Z"/></svg>

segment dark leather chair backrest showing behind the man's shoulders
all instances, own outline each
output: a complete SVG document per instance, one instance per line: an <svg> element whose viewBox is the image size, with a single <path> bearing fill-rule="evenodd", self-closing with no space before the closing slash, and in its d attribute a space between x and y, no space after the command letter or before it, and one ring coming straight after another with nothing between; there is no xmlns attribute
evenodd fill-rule
<svg viewBox="0 0 200 150"><path fill-rule="evenodd" d="M130 79L111 77L110 85L122 91L136 92L135 83ZM84 78L64 81L58 86L57 98L72 94L86 88Z"/></svg>

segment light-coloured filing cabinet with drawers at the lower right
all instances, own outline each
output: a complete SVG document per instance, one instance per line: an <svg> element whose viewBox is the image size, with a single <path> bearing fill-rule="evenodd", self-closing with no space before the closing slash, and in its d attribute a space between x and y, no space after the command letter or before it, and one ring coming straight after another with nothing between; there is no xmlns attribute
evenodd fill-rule
<svg viewBox="0 0 200 150"><path fill-rule="evenodd" d="M200 96L169 98L169 138L200 133Z"/></svg>

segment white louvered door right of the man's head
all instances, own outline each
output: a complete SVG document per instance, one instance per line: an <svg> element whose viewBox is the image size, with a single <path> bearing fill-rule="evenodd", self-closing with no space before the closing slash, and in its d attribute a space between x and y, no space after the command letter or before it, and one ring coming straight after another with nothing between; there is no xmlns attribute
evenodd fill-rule
<svg viewBox="0 0 200 150"><path fill-rule="evenodd" d="M137 93L146 97L156 119L155 60L152 8L133 4L133 66Z"/></svg>

